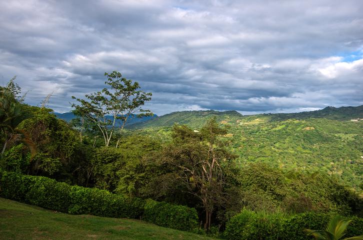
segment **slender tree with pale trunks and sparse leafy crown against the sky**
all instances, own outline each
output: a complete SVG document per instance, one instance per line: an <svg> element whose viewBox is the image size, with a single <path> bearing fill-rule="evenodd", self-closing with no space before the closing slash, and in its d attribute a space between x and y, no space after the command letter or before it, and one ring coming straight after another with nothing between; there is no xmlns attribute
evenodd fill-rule
<svg viewBox="0 0 363 240"><path fill-rule="evenodd" d="M107 77L105 84L109 88L86 94L86 99L72 96L79 102L79 105L72 104L72 107L75 115L85 117L97 126L103 136L104 145L109 146L117 119L121 120L122 131L128 119L152 115L150 110L141 108L145 102L151 100L151 92L139 90L138 82L123 78L119 72L113 71L104 75ZM120 138L116 147L119 140Z"/></svg>

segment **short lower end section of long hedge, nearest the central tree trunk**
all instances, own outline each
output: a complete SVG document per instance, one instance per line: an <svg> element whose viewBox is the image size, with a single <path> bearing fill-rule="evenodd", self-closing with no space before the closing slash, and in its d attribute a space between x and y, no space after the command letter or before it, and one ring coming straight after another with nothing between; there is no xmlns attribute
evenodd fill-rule
<svg viewBox="0 0 363 240"><path fill-rule="evenodd" d="M198 226L196 210L181 205L146 200L143 220L171 229L192 231Z"/></svg>

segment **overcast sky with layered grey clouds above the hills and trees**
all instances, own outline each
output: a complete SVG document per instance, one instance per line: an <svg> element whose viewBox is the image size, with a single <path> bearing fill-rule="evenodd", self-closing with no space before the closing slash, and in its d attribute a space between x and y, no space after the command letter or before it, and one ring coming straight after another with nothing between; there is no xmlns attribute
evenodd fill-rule
<svg viewBox="0 0 363 240"><path fill-rule="evenodd" d="M70 110L117 70L147 107L242 114L363 104L362 0L0 0L0 83Z"/></svg>

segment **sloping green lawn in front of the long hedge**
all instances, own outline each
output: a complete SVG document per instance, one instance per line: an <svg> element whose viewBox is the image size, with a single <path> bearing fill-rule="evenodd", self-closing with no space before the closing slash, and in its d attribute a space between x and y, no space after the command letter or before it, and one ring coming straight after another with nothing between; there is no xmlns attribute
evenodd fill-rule
<svg viewBox="0 0 363 240"><path fill-rule="evenodd" d="M211 240L139 220L68 215L0 198L0 240Z"/></svg>

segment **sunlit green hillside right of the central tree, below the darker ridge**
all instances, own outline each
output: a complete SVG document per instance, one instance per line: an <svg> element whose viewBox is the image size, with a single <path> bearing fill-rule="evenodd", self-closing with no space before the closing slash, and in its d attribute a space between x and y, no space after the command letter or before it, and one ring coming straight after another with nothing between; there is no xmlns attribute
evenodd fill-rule
<svg viewBox="0 0 363 240"><path fill-rule="evenodd" d="M253 119L232 125L225 138L242 163L259 161L286 171L323 171L363 191L363 121Z"/></svg>

